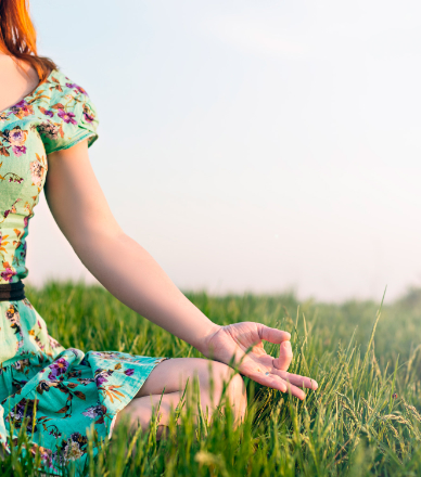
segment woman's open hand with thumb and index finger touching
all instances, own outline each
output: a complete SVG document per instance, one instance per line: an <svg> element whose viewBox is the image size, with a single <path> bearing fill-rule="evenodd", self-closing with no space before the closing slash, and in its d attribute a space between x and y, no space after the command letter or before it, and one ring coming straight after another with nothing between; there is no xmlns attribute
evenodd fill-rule
<svg viewBox="0 0 421 477"><path fill-rule="evenodd" d="M306 395L303 386L317 389L316 381L288 373L292 361L291 335L288 332L265 326L261 323L242 322L218 326L207 336L200 351L207 358L229 364L234 357L234 365L241 374L264 386L291 391L298 399ZM280 345L279 358L267 354L261 340ZM246 353L246 350L252 350Z"/></svg>

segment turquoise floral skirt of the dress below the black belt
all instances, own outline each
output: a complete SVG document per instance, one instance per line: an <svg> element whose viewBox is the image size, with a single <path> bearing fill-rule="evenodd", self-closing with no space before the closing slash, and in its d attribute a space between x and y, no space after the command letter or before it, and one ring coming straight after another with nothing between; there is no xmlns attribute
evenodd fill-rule
<svg viewBox="0 0 421 477"><path fill-rule="evenodd" d="M82 468L90 429L110 438L117 413L166 358L64 349L26 298L1 301L0 313L0 442L10 451L23 431L26 452L38 449L50 473L69 462Z"/></svg>

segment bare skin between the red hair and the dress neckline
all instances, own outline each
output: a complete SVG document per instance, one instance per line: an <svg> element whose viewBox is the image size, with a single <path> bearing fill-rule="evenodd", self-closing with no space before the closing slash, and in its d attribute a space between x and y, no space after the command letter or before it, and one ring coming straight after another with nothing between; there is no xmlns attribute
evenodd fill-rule
<svg viewBox="0 0 421 477"><path fill-rule="evenodd" d="M0 53L0 112L28 95L38 82L38 74L33 66Z"/></svg>

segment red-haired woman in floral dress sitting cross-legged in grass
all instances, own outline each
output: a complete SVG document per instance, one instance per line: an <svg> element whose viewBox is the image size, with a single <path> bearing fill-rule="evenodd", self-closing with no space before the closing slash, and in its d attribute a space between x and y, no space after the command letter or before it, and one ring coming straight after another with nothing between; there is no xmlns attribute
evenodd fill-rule
<svg viewBox="0 0 421 477"><path fill-rule="evenodd" d="M39 57L25 0L0 1L0 441L24 427L52 470L82 464L87 428L101 439L126 414L145 428L160 407L168 424L187 383L197 376L209 416L226 395L235 425L246 408L240 374L304 399L315 381L288 373L290 334L260 323L218 326L174 285L112 216L89 163L98 117L88 93ZM48 172L47 172L48 171ZM194 346L206 359L165 359L64 349L25 298L28 222L44 189L51 212L88 270L132 310ZM118 250L118 260L115 254ZM277 359L261 340L280 345ZM245 351L253 347L248 353ZM233 358L233 361L231 359ZM210 365L209 365L210 364ZM213 386L209 385L210 378ZM24 420L29 416L29 422ZM160 437L160 436L158 436Z"/></svg>

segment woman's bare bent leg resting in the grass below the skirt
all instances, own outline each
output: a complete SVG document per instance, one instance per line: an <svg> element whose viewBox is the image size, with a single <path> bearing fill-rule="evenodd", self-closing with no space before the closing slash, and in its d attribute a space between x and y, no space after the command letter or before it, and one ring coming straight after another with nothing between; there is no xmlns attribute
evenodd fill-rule
<svg viewBox="0 0 421 477"><path fill-rule="evenodd" d="M187 383L188 387L192 386L195 377L199 379L202 411L204 415L208 411L209 417L219 404L226 383L225 396L233 409L238 425L244 417L247 404L242 377L234 375L233 370L224 363L201 358L173 358L157 364L135 399L118 413L115 425L118 425L123 415L128 415L131 425L148 428L153 408L156 409L161 401L160 437L162 426L168 425L171 408L176 409Z"/></svg>

